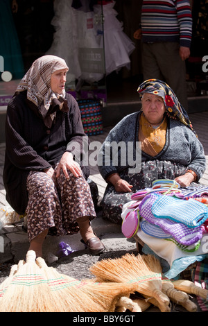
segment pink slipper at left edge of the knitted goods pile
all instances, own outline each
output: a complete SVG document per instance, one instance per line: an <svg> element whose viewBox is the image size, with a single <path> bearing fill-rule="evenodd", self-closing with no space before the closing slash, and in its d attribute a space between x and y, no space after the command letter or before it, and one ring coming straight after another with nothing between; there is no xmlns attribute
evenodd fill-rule
<svg viewBox="0 0 208 326"><path fill-rule="evenodd" d="M139 229L139 214L135 209L126 214L121 225L121 231L126 238L133 237Z"/></svg>

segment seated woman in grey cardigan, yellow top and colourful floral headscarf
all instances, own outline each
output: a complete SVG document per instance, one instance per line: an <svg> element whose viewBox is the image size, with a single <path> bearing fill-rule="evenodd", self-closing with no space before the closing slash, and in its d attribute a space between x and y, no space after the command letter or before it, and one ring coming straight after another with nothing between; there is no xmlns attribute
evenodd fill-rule
<svg viewBox="0 0 208 326"><path fill-rule="evenodd" d="M205 171L202 144L173 90L161 80L138 88L141 111L124 117L109 133L98 155L107 182L103 217L121 223L123 204L132 193L158 179L182 187L198 182Z"/></svg>

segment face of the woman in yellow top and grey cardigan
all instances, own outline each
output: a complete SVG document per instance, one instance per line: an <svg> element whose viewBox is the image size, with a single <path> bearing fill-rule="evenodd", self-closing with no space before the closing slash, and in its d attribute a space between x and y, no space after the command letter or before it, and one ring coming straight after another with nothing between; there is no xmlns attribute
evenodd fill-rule
<svg viewBox="0 0 208 326"><path fill-rule="evenodd" d="M141 98L141 105L149 123L157 125L162 122L166 108L161 96L144 93Z"/></svg>

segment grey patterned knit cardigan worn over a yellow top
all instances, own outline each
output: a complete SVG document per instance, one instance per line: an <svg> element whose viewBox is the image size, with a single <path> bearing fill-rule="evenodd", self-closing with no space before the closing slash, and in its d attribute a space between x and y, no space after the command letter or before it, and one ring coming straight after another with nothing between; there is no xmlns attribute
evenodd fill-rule
<svg viewBox="0 0 208 326"><path fill-rule="evenodd" d="M114 128L110 131L109 135L103 142L103 146L98 154L98 168L106 179L112 173L119 173L123 169L129 168L130 163L128 160L129 153L132 154L131 162L136 162L137 152L139 144L138 132L139 132L139 116L141 112L135 112L124 117ZM152 157L142 151L141 162L148 160L159 160L159 161L171 161L177 162L178 164L191 169L198 175L198 180L202 177L206 169L206 157L202 144L193 133L193 131L185 126L180 121L167 118L168 127L166 132L166 144L162 151L155 157ZM113 141L116 144L122 144L128 150L122 151L121 148L112 146ZM116 149L118 152L116 153ZM114 158L118 158L118 163ZM124 157L125 156L125 157ZM125 158L125 160L122 160ZM123 162L126 162L123 164Z"/></svg>

